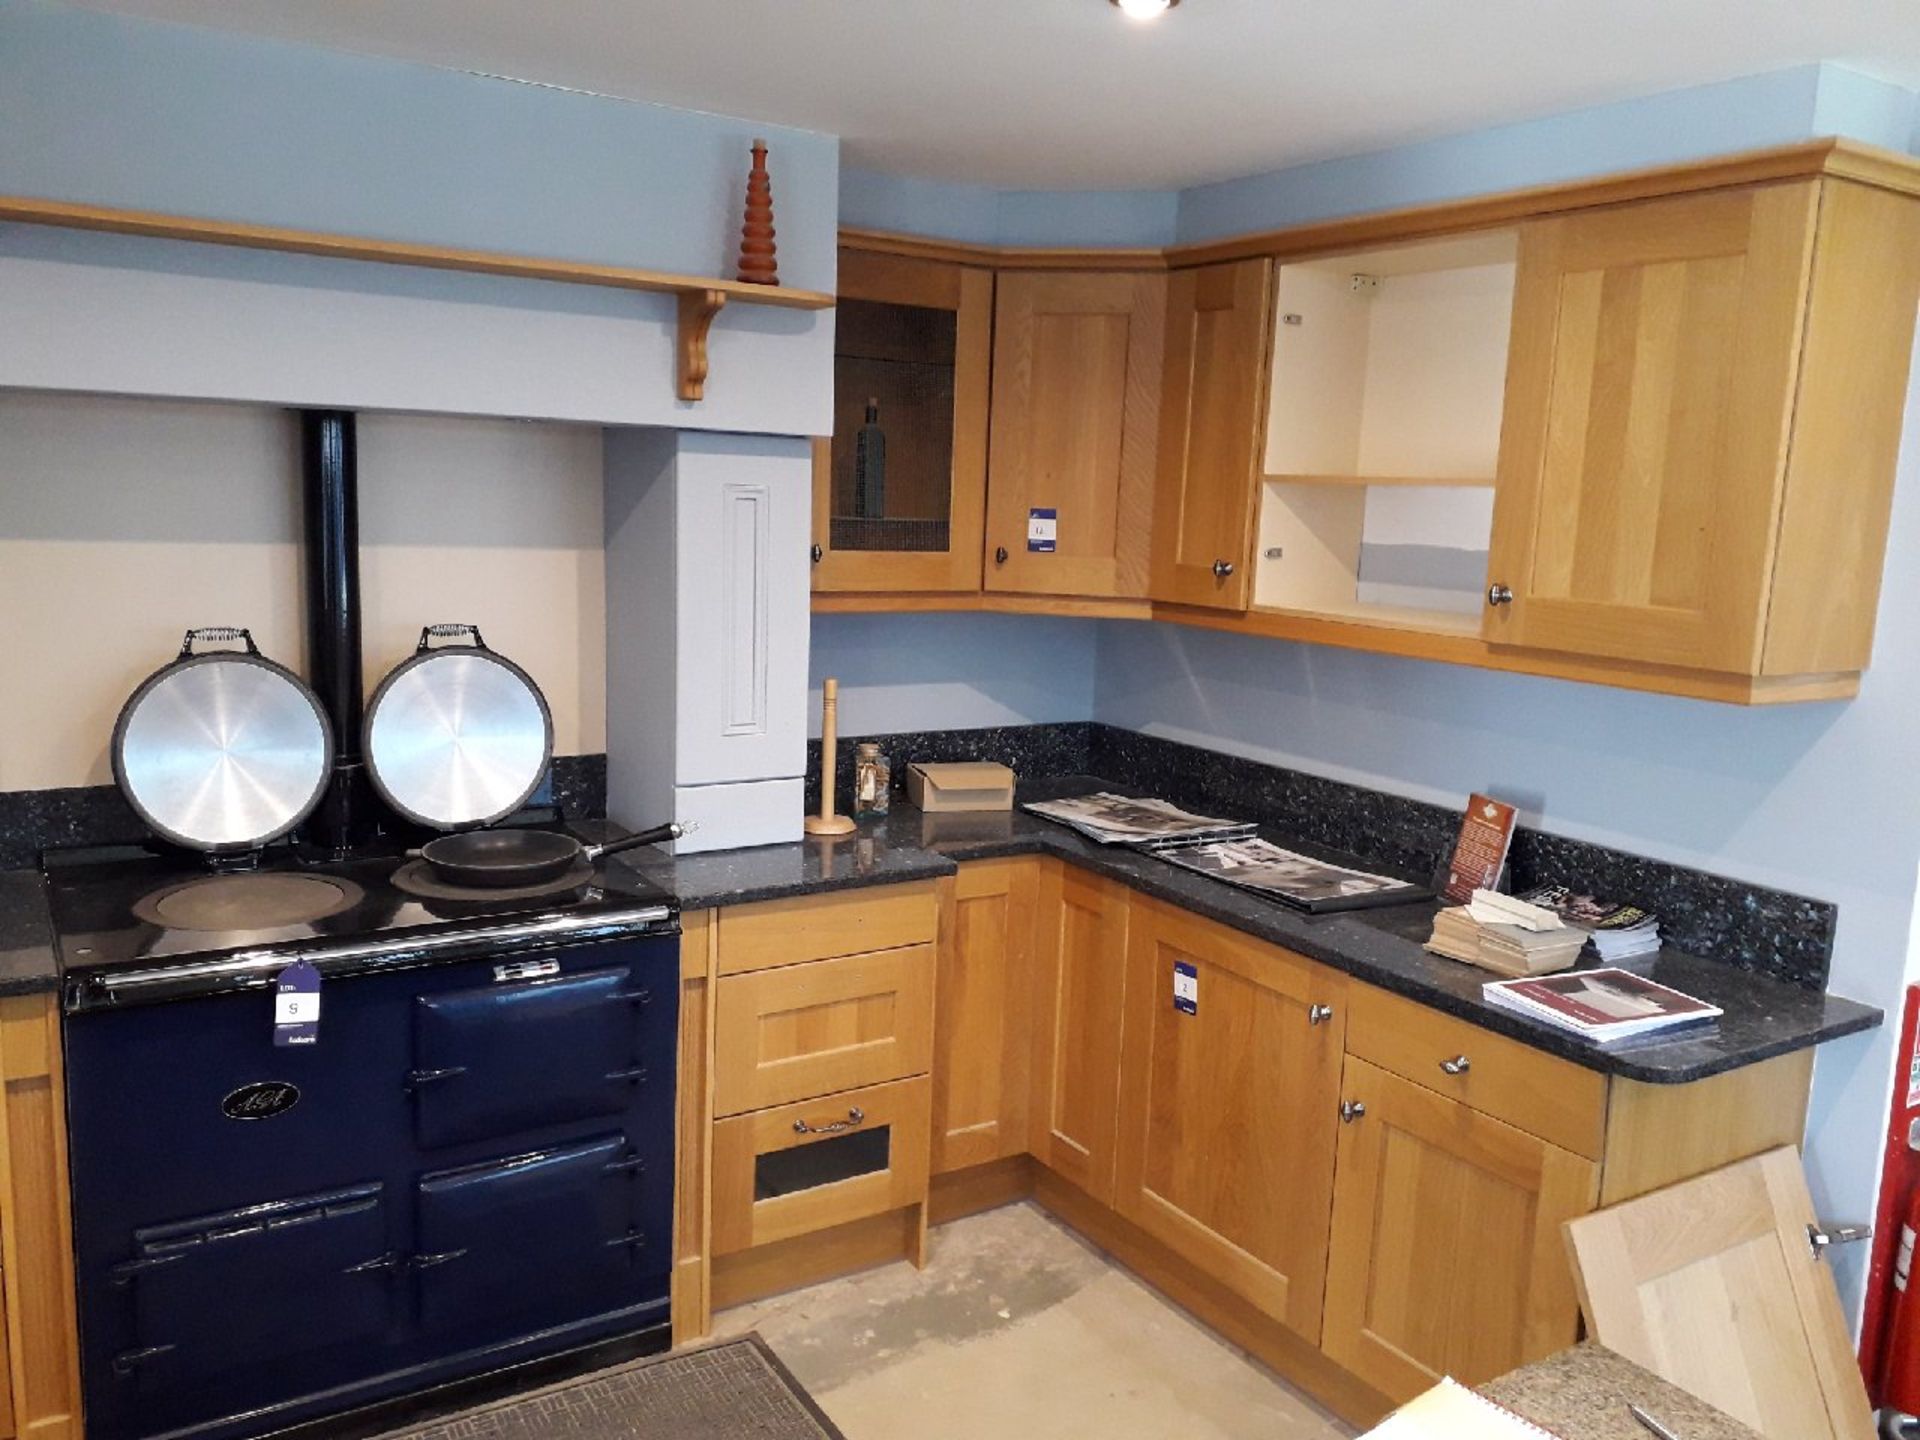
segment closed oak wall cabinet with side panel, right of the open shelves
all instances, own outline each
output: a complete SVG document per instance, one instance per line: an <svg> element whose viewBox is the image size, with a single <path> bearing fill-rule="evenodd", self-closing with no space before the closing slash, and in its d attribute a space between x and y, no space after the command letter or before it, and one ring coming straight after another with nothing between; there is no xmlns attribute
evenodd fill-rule
<svg viewBox="0 0 1920 1440"><path fill-rule="evenodd" d="M1849 180L1523 227L1486 639L1862 670L1916 294L1920 204Z"/></svg>

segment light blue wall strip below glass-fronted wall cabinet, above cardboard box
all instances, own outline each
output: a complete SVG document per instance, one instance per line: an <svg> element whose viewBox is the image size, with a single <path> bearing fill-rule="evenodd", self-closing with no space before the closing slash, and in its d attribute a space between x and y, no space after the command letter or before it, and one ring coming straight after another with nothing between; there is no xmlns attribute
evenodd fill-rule
<svg viewBox="0 0 1920 1440"><path fill-rule="evenodd" d="M975 730L1092 714L1098 632L1031 614L816 614L808 732L820 682L841 682L843 735Z"/></svg>

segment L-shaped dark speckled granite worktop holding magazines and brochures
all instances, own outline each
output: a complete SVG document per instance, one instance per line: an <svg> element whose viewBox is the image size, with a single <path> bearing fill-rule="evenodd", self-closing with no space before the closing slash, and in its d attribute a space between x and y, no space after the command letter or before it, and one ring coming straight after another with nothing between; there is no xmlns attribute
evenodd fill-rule
<svg viewBox="0 0 1920 1440"><path fill-rule="evenodd" d="M1079 776L1021 785L1021 799L1087 793L1100 787L1123 789L1098 778ZM1275 833L1273 839L1325 854L1298 837ZM1715 1031L1693 1039L1640 1044L1609 1054L1549 1025L1486 1004L1480 998L1480 987L1490 979L1486 972L1428 954L1423 943L1438 908L1432 900L1308 916L1277 900L1177 870L1148 854L1096 845L1023 810L927 814L895 801L889 816L862 822L852 835L839 839L803 839L689 856L668 856L647 847L616 856L614 862L632 864L674 893L684 910L705 910L929 879L954 874L964 860L1014 854L1060 856L1144 895L1284 945L1371 985L1511 1035L1590 1069L1655 1085L1705 1079L1874 1029L1882 1021L1882 1012L1872 1006L1667 948L1651 966L1636 962L1636 970L1663 985L1718 1004L1726 1016Z"/></svg>

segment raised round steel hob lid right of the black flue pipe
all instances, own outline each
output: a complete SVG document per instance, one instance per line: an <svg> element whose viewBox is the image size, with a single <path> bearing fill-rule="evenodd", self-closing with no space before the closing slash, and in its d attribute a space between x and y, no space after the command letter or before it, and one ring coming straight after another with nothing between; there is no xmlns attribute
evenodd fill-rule
<svg viewBox="0 0 1920 1440"><path fill-rule="evenodd" d="M436 647L436 639L467 645ZM367 707L367 772L409 820L486 826L540 789L553 758L553 712L540 685L495 655L474 626L426 626Z"/></svg>

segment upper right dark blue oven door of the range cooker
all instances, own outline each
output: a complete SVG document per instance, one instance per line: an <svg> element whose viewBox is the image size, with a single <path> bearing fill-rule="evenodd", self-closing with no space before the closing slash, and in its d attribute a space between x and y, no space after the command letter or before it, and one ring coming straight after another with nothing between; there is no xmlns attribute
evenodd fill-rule
<svg viewBox="0 0 1920 1440"><path fill-rule="evenodd" d="M419 996L415 1140L442 1150L624 1114L651 1079L636 1058L651 1002L626 968Z"/></svg>

